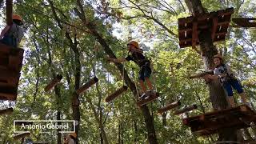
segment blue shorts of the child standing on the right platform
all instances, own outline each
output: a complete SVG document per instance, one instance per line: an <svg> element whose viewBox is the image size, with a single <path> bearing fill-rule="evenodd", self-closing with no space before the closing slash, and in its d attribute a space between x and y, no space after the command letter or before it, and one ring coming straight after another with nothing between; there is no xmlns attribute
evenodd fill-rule
<svg viewBox="0 0 256 144"><path fill-rule="evenodd" d="M243 93L242 85L238 82L237 79L230 80L228 82L223 82L223 87L226 90L226 93L229 97L232 97L234 95L232 87L234 88L234 90L238 91L238 94Z"/></svg>

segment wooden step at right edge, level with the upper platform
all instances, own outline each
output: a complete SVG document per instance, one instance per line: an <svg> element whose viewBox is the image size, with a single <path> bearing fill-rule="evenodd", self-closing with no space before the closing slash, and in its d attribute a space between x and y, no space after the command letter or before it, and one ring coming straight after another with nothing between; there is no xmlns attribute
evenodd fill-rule
<svg viewBox="0 0 256 144"><path fill-rule="evenodd" d="M238 27L256 27L256 18L232 18Z"/></svg>

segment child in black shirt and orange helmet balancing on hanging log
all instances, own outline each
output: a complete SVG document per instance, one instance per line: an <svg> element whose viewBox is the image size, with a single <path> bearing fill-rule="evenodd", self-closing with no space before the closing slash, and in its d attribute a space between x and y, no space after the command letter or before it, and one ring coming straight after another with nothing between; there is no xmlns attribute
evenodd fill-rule
<svg viewBox="0 0 256 144"><path fill-rule="evenodd" d="M135 62L139 67L139 84L142 88L142 91L144 94L142 94L142 98L149 98L146 97L146 94L154 94L152 83L150 82L150 74L151 74L151 68L150 68L150 61L145 58L145 56L142 54L142 50L138 47L138 42L131 41L127 44L127 50L129 50L129 55L126 58L108 58L111 62L126 62L126 61L133 61ZM149 91L146 91L146 86L144 85L144 82L146 82L147 86L149 87Z"/></svg>

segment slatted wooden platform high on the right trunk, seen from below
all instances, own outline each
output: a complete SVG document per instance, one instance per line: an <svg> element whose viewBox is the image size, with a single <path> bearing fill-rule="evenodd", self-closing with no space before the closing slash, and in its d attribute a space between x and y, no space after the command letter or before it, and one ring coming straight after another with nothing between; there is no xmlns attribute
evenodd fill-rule
<svg viewBox="0 0 256 144"><path fill-rule="evenodd" d="M213 42L224 41L234 8L210 12L196 18L178 18L178 38L181 48L198 46L198 32L209 29Z"/></svg>

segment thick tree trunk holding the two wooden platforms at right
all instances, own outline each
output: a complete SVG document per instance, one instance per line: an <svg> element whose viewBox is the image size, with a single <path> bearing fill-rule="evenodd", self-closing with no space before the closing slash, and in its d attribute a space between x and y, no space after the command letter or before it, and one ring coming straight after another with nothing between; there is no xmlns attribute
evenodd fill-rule
<svg viewBox="0 0 256 144"><path fill-rule="evenodd" d="M206 9L202 7L200 0L194 0L188 2L190 5L189 8L193 12L195 17L200 16L206 12ZM210 30L201 30L198 32L198 38L200 41L200 49L202 52L202 59L206 66L206 70L214 69L214 55L218 54L218 50L214 46L214 43L211 39ZM208 87L210 91L210 100L214 109L225 109L228 107L226 102L226 94L218 81L208 82ZM226 128L219 131L219 140L220 141L237 141L237 134L234 128Z"/></svg>

